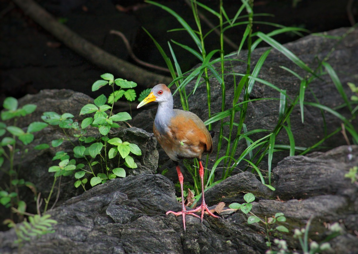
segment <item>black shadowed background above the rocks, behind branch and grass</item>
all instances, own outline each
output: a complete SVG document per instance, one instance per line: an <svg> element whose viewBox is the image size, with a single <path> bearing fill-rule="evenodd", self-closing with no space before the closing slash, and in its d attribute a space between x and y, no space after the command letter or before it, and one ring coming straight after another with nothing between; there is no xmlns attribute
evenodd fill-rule
<svg viewBox="0 0 358 254"><path fill-rule="evenodd" d="M165 62L153 41L141 28L142 26L154 36L168 54L167 41L170 39L195 48L186 31L166 32L170 29L180 28L180 24L173 16L143 1L42 0L37 2L83 38L118 58L134 64L135 62L129 57L122 40L116 35L109 34L111 29L121 31L126 35L139 59L159 66L165 66ZM192 10L184 1L157 2L175 10L193 28L195 27ZM352 8L356 20L358 19L357 2L353 1ZM218 11L218 0L202 1L202 3ZM293 0L261 0L255 1L254 4L255 14L274 15L256 17L254 21L261 20L285 26L299 26L312 33L350 26L347 15L348 0L302 0L295 6ZM241 1L224 0L224 8L230 18L233 18L240 6ZM104 90L98 91L98 93L91 92L91 86L107 70L91 64L87 59L67 48L61 41L26 16L13 2L0 0L0 10L1 105L7 96L21 98L25 94L38 93L41 89L68 88L81 91L94 98L101 93L106 94ZM216 17L201 8L200 10L214 25L218 24ZM246 11L244 10L243 13L245 14ZM202 27L204 31L209 30L204 22L202 22ZM264 33L274 29L267 25L255 25L253 28L254 32L262 31ZM244 30L245 25L238 26L228 30L226 36L234 43L240 44ZM286 43L299 37L287 33L274 38L280 43ZM173 45L173 48L184 71L198 63L197 59L187 51L176 45ZM214 33L208 36L205 39L205 48L207 52L218 49L219 37ZM225 44L226 53L234 50ZM165 74L160 71L156 72ZM117 74L113 74L115 78L121 78ZM154 86L155 84L138 85L137 92L139 93L145 86Z"/></svg>

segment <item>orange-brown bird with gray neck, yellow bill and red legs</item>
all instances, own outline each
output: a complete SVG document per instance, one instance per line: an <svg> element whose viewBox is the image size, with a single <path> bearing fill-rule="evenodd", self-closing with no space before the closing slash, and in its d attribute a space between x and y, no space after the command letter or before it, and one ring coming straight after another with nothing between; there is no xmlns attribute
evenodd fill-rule
<svg viewBox="0 0 358 254"><path fill-rule="evenodd" d="M173 109L173 96L165 84L155 85L153 89L151 89L150 94L138 104L137 108L153 101L159 104L153 123L153 133L160 146L176 167L182 192L182 211L168 211L166 215L170 213L175 216L182 215L184 231L186 231L185 215L193 215L200 218L203 222L204 212L207 211L209 215L220 218L214 215L205 203L204 168L201 160L203 153L211 153L213 150L212 135L214 132L210 133L203 121L194 113L181 109ZM184 205L183 196L184 178L180 171L179 161L193 158L197 158L199 161L202 204L193 210L187 210ZM199 217L195 213L200 210L201 216Z"/></svg>

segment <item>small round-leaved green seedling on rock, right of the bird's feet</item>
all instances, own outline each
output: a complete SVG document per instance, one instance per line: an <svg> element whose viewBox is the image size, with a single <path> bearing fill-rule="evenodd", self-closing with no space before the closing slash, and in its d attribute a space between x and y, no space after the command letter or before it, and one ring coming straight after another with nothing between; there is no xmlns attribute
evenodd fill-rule
<svg viewBox="0 0 358 254"><path fill-rule="evenodd" d="M253 195L252 193L246 193L244 195L244 200L246 201L246 203L232 203L229 205L229 208L241 210L244 214L250 213L251 216L247 218L247 224L253 224L258 222L263 223L266 227L266 245L271 249L271 234L276 235L277 232L289 233L289 230L284 225L274 225L276 222L285 222L285 215L283 213L276 213L274 216L265 216L265 219L261 219L251 212L252 202L255 200L255 195Z"/></svg>

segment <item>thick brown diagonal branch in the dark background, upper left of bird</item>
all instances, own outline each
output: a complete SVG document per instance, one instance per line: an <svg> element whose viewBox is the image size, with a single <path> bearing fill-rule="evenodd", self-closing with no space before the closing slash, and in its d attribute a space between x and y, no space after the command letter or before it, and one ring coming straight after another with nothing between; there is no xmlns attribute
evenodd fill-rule
<svg viewBox="0 0 358 254"><path fill-rule="evenodd" d="M173 79L168 76L152 73L98 48L94 44L74 33L71 29L67 28L67 26L59 23L51 14L44 10L35 1L13 1L24 11L26 15L49 31L57 39L62 41L70 49L91 61L91 63L96 64L105 70L112 71L122 78L133 80L145 87L153 87L153 84L158 83L169 84L173 81Z"/></svg>

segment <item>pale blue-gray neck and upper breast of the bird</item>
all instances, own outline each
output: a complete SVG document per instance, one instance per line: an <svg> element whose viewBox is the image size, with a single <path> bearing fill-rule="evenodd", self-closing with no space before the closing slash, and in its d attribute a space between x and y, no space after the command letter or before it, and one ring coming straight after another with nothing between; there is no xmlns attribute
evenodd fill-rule
<svg viewBox="0 0 358 254"><path fill-rule="evenodd" d="M171 97L170 99L171 100L169 101L163 101L159 103L158 110L154 119L155 128L159 131L159 133L162 134L168 132L168 125L170 123L170 119L174 115L173 98Z"/></svg>

